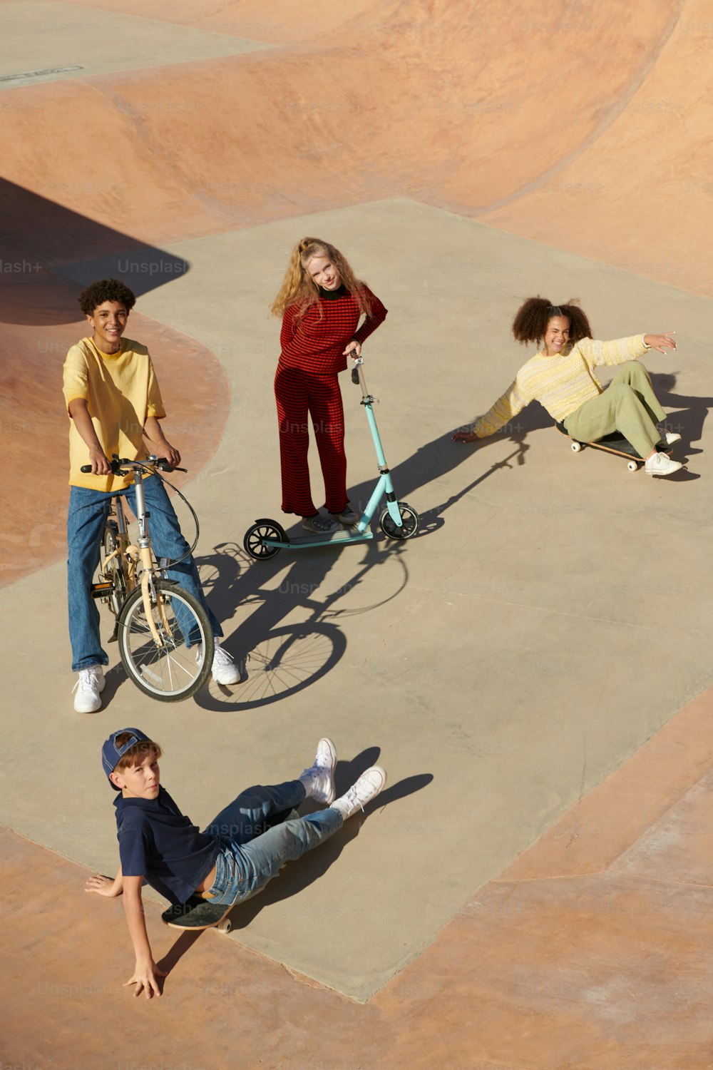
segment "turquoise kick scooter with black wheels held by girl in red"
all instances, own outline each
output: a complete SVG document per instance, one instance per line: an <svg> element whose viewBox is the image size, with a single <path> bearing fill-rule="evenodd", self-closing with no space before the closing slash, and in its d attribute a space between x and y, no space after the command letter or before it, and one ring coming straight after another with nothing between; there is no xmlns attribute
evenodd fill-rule
<svg viewBox="0 0 713 1070"><path fill-rule="evenodd" d="M398 502L391 482L391 473L386 463L382 440L378 437L376 417L374 416L373 403L378 398L372 397L367 389L367 382L363 377L362 360L357 357L352 369L352 382L361 387L361 404L367 413L369 429L376 450L379 477L376 486L367 504L367 508L361 514L358 523L341 531L332 532L329 535L297 535L290 537L277 520L269 520L263 517L255 520L251 528L248 528L243 539L243 546L247 553L255 561L267 561L274 557L280 550L304 550L311 546L324 546L325 544L341 545L343 542L367 542L374 537L370 528L378 503L386 496L386 508L378 518L378 525L391 539L412 538L418 532L419 516L410 505L405 502Z"/></svg>

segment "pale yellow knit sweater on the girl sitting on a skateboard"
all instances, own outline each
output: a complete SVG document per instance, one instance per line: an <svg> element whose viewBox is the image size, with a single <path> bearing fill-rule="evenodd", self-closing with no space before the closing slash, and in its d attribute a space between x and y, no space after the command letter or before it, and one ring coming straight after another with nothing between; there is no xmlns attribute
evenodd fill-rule
<svg viewBox="0 0 713 1070"><path fill-rule="evenodd" d="M553 419L567 419L585 401L604 392L594 368L635 361L648 348L644 335L634 335L615 341L582 338L555 356L542 351L522 366L512 385L475 422L472 430L479 439L495 434L530 401L539 401Z"/></svg>

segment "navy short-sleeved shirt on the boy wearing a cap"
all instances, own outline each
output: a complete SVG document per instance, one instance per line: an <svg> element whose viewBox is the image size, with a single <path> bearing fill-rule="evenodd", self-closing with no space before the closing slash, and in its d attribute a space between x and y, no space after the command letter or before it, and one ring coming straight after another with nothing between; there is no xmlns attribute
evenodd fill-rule
<svg viewBox="0 0 713 1070"><path fill-rule="evenodd" d="M171 903L185 903L213 869L218 840L200 832L165 788L155 799L114 799L124 876L142 876Z"/></svg>

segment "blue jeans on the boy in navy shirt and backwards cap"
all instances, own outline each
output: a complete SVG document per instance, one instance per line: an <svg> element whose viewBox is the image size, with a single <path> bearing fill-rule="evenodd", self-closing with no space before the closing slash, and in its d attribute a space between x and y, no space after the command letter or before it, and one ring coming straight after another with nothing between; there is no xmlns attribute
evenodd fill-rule
<svg viewBox="0 0 713 1070"><path fill-rule="evenodd" d="M239 903L260 891L285 862L324 843L342 827L342 812L328 807L255 836L266 819L304 801L305 785L299 780L273 788L248 788L203 829L220 841L215 881L208 889L214 903Z"/></svg>

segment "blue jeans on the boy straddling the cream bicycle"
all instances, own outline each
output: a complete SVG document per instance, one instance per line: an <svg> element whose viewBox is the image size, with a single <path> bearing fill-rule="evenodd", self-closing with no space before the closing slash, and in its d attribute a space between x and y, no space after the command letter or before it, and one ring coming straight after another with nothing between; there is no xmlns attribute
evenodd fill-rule
<svg viewBox="0 0 713 1070"><path fill-rule="evenodd" d="M157 557L171 561L183 556L188 544L181 534L179 518L166 493L166 488L156 476L143 480L146 499L149 533ZM127 487L117 492L126 498L136 514L136 490ZM99 642L99 611L90 594L94 574L99 564L102 535L111 509L112 491L89 490L86 487L69 488L69 511L67 515L67 598L69 603L69 641L72 643L72 671L79 672L90 666L109 663ZM169 568L168 576L198 598L204 607L214 636L222 636L215 615L208 609L193 559L187 557L176 568ZM187 641L190 646L190 641Z"/></svg>

